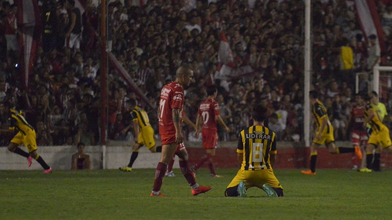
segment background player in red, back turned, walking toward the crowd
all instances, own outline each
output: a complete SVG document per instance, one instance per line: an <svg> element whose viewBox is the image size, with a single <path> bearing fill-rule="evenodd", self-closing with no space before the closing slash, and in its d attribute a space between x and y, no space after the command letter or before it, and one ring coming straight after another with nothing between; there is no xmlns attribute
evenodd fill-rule
<svg viewBox="0 0 392 220"><path fill-rule="evenodd" d="M218 144L216 123L221 124L227 132L230 131L220 115L221 112L219 110L219 103L215 101L217 94L218 90L215 86L208 87L207 100L200 104L199 110L197 111L195 137L199 138L200 127L202 127L203 148L206 149L206 155L204 155L199 162L190 167L190 169L196 173L200 166L208 163L211 177L222 177L215 173L214 163L212 161L212 157L215 156L216 146Z"/></svg>

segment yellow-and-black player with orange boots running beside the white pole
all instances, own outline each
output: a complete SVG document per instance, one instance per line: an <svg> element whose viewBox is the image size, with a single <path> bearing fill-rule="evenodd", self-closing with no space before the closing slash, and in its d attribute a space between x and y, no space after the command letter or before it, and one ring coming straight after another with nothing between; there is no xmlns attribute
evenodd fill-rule
<svg viewBox="0 0 392 220"><path fill-rule="evenodd" d="M306 175L316 175L317 149L325 145L331 154L355 153L358 158L362 159L360 147L335 147L333 137L333 127L328 118L327 109L318 99L319 93L315 90L309 92L309 101L312 106L312 114L317 125L317 130L310 146L310 169L302 170L301 173Z"/></svg>

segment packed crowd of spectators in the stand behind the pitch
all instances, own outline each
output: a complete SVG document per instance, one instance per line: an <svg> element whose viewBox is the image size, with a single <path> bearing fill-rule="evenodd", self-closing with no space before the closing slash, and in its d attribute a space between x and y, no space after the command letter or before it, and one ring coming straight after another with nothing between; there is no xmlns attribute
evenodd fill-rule
<svg viewBox="0 0 392 220"><path fill-rule="evenodd" d="M81 47L70 48L68 55L63 43L70 20L65 1L40 1L45 30L50 29L52 34L48 36L49 32L42 31L45 40L41 41L29 86L24 89L16 65L17 50L9 47L5 37L13 30L9 18L18 8L0 0L0 101L14 101L26 111L27 120L37 129L38 145L97 145L102 109L100 42L96 35L100 6L85 1ZM214 84L219 87L221 116L231 130L218 130L221 141L236 140L238 131L249 126L249 112L256 102L268 107L269 126L277 131L280 140L301 140L303 0L235 0L231 5L226 0L148 0L142 7L131 2L115 0L108 4L107 51L116 56L150 103L157 106L161 88L186 62L193 67L196 79L186 91L184 110L190 120L196 120L198 105L206 97L206 86ZM388 59L392 54L392 4L378 1L378 9L387 42L387 53L382 55L384 64L392 65ZM346 1L316 0L312 10L312 87L324 94L322 101L335 126L335 138L349 140L352 77L353 73L369 71L375 64L368 62L373 55L368 53L371 46L362 36L352 5ZM50 21L46 19L49 12L55 15ZM11 34L16 37L20 35L18 27L13 31ZM249 66L251 71L228 79L218 77L222 31L231 48L233 68ZM346 58L342 56L345 49L354 53L351 66L341 60ZM360 91L368 91L367 80L365 76L361 81ZM129 140L130 130L125 129L131 123L129 112L125 111L128 99L137 100L148 111L157 131L156 109L144 105L112 67L107 85L109 139ZM392 106L387 108L391 111ZM2 108L0 119L1 128L7 127L7 112ZM193 128L184 129L192 140ZM7 144L4 140L1 138L1 146Z"/></svg>

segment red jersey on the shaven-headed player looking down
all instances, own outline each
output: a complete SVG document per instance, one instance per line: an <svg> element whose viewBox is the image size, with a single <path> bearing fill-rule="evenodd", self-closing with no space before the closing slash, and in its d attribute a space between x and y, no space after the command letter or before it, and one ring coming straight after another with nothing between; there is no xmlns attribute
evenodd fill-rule
<svg viewBox="0 0 392 220"><path fill-rule="evenodd" d="M184 88L179 83L170 82L162 88L158 112L159 134L161 137L167 134L176 133L176 128L173 123L172 109L180 109L181 119L183 104Z"/></svg>

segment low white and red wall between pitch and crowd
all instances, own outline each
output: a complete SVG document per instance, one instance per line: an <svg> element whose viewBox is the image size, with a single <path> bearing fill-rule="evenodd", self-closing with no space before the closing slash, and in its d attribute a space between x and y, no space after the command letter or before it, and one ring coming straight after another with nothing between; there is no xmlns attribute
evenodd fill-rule
<svg viewBox="0 0 392 220"><path fill-rule="evenodd" d="M86 146L84 151L90 155L93 169L118 169L129 162L132 147L129 143L109 143L109 146ZM159 144L159 143L158 143ZM199 158L205 154L201 143L188 142L186 149L189 153L189 165L195 164ZM351 146L348 142L337 142L336 146ZM104 148L104 163L103 163ZM26 150L22 147L23 150ZM38 154L54 170L71 169L71 155L75 153L74 146L38 147ZM139 157L135 161L133 168L155 168L161 154L150 153L146 147L139 151ZM218 144L214 163L217 168L236 168L236 142L221 142ZM179 168L178 158L174 163L174 168ZM353 161L353 154L331 155L325 147L318 151L318 168L351 168L356 162ZM383 168L392 167L392 154L384 150L381 157ZM205 166L206 167L206 166ZM309 167L309 147L303 147L298 142L278 143L278 158L274 168L308 168ZM26 159L20 155L9 152L7 147L0 147L0 169L42 169L36 161L29 168Z"/></svg>

